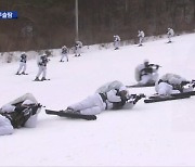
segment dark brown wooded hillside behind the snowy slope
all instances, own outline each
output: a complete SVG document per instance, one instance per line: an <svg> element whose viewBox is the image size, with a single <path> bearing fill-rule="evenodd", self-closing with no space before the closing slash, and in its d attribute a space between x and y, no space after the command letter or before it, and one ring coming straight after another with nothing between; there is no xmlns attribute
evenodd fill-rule
<svg viewBox="0 0 195 167"><path fill-rule="evenodd" d="M17 20L0 20L0 51L72 47L75 42L75 0L1 0L0 11L17 11ZM79 40L83 44L193 31L195 0L78 0Z"/></svg>

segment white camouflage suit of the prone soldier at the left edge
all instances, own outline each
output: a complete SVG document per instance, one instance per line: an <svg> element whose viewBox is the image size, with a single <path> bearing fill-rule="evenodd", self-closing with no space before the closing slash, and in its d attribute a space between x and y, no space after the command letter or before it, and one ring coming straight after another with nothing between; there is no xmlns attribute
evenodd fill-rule
<svg viewBox="0 0 195 167"><path fill-rule="evenodd" d="M22 105L28 105L28 104L37 104L37 100L31 93L26 93L16 100L3 105L0 108L0 113L11 113L14 112L16 103L23 102ZM29 103L30 102L30 103ZM40 113L41 108L38 108L37 113L35 115L31 115L28 120L25 123L24 127L26 128L35 128L37 125L37 118L38 114ZM11 124L11 121L0 114L0 136L3 134L12 134L14 132L14 128Z"/></svg>

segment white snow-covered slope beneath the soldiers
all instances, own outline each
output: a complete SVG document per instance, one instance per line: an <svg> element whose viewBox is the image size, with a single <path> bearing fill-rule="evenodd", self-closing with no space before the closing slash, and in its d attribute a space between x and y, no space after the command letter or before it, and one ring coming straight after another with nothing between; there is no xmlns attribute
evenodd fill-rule
<svg viewBox="0 0 195 167"><path fill-rule="evenodd" d="M195 78L195 34L120 50L93 50L60 63L58 51L48 65L50 81L32 81L36 60L27 62L27 76L14 75L18 62L0 66L0 105L24 93L32 93L47 108L62 110L78 102L103 84L134 84L134 67L148 59L162 67ZM131 93L155 93L154 88L129 89ZM37 128L15 129L0 137L0 166L195 166L195 98L145 104L131 111L107 111L96 120L39 115Z"/></svg>

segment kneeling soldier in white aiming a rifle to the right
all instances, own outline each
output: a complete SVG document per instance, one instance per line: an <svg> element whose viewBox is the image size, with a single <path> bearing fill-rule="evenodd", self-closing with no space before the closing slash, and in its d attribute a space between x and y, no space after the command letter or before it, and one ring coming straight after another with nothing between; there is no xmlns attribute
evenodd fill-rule
<svg viewBox="0 0 195 167"><path fill-rule="evenodd" d="M135 79L138 85L155 85L158 79L158 68L160 66L157 64L150 64L148 60L144 60L143 64L140 64L135 68Z"/></svg>

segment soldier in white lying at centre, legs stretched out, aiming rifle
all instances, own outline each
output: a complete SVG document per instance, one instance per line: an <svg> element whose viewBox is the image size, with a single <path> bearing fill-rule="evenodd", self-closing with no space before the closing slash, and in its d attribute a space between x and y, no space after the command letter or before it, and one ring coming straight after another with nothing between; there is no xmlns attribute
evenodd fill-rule
<svg viewBox="0 0 195 167"><path fill-rule="evenodd" d="M96 115L105 110L132 108L144 97L144 94L129 94L127 88L121 82L115 80L99 88L93 95L69 105L63 112Z"/></svg>

